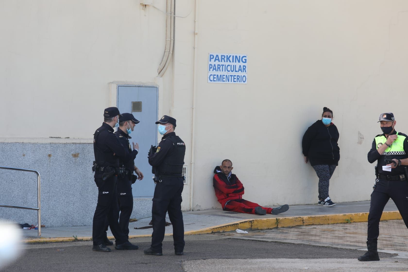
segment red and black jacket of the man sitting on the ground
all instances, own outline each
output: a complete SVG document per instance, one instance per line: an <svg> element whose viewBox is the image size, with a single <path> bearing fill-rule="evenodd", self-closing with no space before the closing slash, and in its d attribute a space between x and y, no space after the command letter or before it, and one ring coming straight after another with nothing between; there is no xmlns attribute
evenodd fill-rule
<svg viewBox="0 0 408 272"><path fill-rule="evenodd" d="M231 174L228 180L226 175L222 172L217 172L217 170L221 170L220 166L217 166L214 170L213 186L217 200L221 203L222 209L224 209L227 201L242 198L244 186L236 175Z"/></svg>

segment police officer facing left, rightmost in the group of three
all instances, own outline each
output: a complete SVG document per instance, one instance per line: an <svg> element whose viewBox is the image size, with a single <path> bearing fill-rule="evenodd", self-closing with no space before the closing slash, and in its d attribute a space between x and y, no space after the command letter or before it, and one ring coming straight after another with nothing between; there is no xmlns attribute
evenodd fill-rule
<svg viewBox="0 0 408 272"><path fill-rule="evenodd" d="M151 247L144 250L147 255L162 255L162 241L166 223L166 212L173 225L174 253L183 255L184 223L181 211L183 191L182 170L186 145L175 133L176 119L164 115L159 121L158 130L162 137L157 148L149 152L149 164L155 172L155 191L153 196Z"/></svg>

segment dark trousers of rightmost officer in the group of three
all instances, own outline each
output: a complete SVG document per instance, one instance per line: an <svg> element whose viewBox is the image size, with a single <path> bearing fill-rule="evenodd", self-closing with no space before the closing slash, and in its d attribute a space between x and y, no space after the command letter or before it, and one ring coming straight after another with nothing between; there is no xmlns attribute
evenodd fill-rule
<svg viewBox="0 0 408 272"><path fill-rule="evenodd" d="M162 252L166 212L169 213L173 225L174 251L184 250L184 223L181 212L182 177L167 177L157 182L152 207L153 234L151 248L154 252Z"/></svg>

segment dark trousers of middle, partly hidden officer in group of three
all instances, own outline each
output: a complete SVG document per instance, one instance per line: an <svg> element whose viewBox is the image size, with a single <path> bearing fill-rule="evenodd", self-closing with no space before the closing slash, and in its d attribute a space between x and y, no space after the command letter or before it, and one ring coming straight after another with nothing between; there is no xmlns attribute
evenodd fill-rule
<svg viewBox="0 0 408 272"><path fill-rule="evenodd" d="M118 212L120 211L119 226L122 232L126 235L126 239L129 239L129 219L133 211L132 181L127 177L118 178L117 191L119 205ZM108 226L109 222L106 218L105 236Z"/></svg>

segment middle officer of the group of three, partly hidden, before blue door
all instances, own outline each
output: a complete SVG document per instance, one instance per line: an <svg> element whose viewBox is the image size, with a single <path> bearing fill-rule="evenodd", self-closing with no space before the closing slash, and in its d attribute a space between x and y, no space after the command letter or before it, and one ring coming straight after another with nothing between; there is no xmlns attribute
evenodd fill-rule
<svg viewBox="0 0 408 272"><path fill-rule="evenodd" d="M115 132L126 153L131 154L129 161L119 159L119 165L123 167L121 174L118 176L119 226L126 236L129 235L129 219L133 210L132 184L135 183L136 179L143 179L143 173L135 166L134 161L139 151L139 144L132 142L132 151L129 143L129 139L132 139L130 134L135 129L135 124L139 124L139 122L133 114L122 113L122 116L119 117L119 128ZM136 172L137 176L133 175L133 171Z"/></svg>

